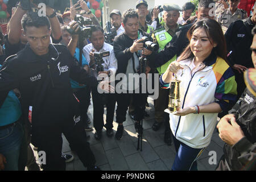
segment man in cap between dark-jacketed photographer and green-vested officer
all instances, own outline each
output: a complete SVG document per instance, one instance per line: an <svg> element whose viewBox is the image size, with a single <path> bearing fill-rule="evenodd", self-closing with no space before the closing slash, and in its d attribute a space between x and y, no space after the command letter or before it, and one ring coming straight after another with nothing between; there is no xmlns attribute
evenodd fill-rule
<svg viewBox="0 0 256 182"><path fill-rule="evenodd" d="M139 28L148 34L152 34L154 28L146 22L146 16L148 14L147 2L139 0L136 2L136 11L139 14Z"/></svg>

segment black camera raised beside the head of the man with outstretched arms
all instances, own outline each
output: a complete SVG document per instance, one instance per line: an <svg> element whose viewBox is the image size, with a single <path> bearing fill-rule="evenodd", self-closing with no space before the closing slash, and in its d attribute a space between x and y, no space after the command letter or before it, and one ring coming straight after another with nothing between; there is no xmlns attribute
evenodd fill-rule
<svg viewBox="0 0 256 182"><path fill-rule="evenodd" d="M81 15L76 15L74 20L79 24L79 31L75 32L71 27L67 27L69 34L79 34L82 38L89 38L92 34L92 20Z"/></svg>

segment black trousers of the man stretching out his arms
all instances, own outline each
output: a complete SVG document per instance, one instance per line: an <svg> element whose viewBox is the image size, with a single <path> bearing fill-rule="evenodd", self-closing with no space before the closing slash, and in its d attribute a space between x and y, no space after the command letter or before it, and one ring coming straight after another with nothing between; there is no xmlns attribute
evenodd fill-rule
<svg viewBox="0 0 256 182"><path fill-rule="evenodd" d="M36 134L32 133L32 140L34 135L36 135L36 142L32 142L32 144L38 147L38 152L44 151L46 154L46 163L42 164L42 168L44 170L65 170L65 160L61 158L63 145L62 133L67 138L73 150L77 152L84 166L94 166L96 160L93 152L90 150L90 144L86 142L83 123L81 120L74 122L73 115L71 115L71 117L65 119L63 122L55 125L52 124L51 126L41 126L40 129L36 130ZM39 162L43 162L43 160L40 160L40 155Z"/></svg>

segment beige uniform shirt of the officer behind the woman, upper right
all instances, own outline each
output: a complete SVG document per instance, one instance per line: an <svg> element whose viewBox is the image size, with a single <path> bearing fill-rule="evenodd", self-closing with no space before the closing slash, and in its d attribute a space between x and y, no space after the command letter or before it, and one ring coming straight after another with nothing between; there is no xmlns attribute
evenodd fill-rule
<svg viewBox="0 0 256 182"><path fill-rule="evenodd" d="M236 12L232 14L230 9L225 9L217 15L216 21L220 23L223 34L225 34L231 23L245 18L247 18L247 13L245 10L237 9Z"/></svg>

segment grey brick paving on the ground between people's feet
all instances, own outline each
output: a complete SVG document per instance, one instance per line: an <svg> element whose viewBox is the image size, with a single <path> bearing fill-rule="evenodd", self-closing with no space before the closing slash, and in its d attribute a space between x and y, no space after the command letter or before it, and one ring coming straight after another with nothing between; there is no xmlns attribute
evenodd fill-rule
<svg viewBox="0 0 256 182"><path fill-rule="evenodd" d="M92 101L91 101L92 103ZM125 132L121 140L115 139L115 131L117 131L118 124L113 122L113 137L109 138L106 135L105 128L102 130L101 140L94 138L95 129L89 131L86 134L89 135L88 142L96 157L96 165L102 170L106 171L168 171L172 167L174 158L176 155L174 145L167 146L163 141L164 126L162 125L158 131L151 129L154 123L154 105L153 100L148 97L148 103L150 107L146 107L146 111L150 114L143 120L143 142L142 151L137 150L137 135L134 129L134 121L130 118L129 114L126 115ZM89 107L89 117L92 120L93 108ZM106 110L105 110L106 114ZM104 117L106 118L106 117ZM115 117L114 117L115 119ZM90 124L93 126L93 123ZM210 145L205 149L203 154L197 160L197 166L200 171L213 171L216 168L213 154L210 151L215 151L217 154L217 163L222 156L222 147L224 142L218 137L217 130L214 130L212 141ZM35 152L35 151L34 151ZM67 171L86 170L82 165L75 152L72 152L69 148L67 139L63 135L63 152L64 154L72 154L74 160L67 163ZM35 152L36 158L38 158ZM213 163L213 164L209 164Z"/></svg>

